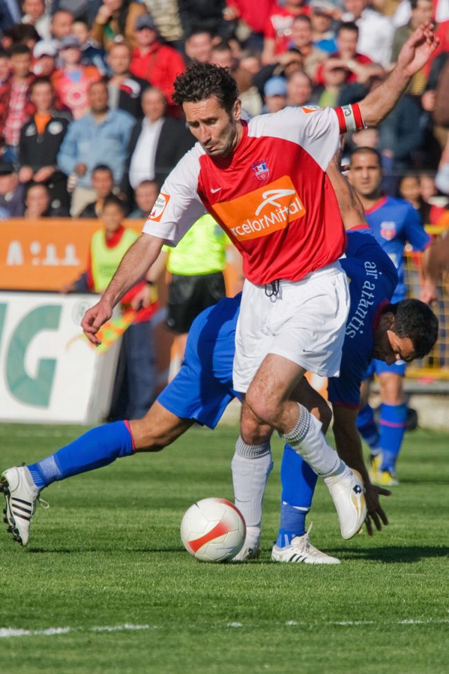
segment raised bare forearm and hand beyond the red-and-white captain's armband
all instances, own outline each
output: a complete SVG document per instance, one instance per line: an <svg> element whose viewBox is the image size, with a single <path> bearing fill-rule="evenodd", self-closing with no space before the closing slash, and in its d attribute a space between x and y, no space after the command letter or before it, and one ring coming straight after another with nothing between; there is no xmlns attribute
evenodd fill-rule
<svg viewBox="0 0 449 674"><path fill-rule="evenodd" d="M439 45L430 23L421 24L399 52L396 66L382 84L359 103L363 122L376 127L397 104L410 78L421 70Z"/></svg>

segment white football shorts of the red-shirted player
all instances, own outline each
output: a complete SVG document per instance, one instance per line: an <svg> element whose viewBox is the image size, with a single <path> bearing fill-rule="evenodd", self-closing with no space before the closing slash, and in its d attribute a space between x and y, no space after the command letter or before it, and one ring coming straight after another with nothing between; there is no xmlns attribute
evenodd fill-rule
<svg viewBox="0 0 449 674"><path fill-rule="evenodd" d="M336 377L350 296L339 262L300 281L271 285L245 281L236 329L233 388L246 393L269 353L283 356L321 377Z"/></svg>

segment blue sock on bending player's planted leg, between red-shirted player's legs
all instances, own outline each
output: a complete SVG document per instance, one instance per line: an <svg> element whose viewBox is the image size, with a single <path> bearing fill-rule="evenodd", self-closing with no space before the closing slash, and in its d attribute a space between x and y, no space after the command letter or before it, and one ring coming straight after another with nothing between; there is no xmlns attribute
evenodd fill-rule
<svg viewBox="0 0 449 674"><path fill-rule="evenodd" d="M280 466L282 502L280 528L276 545L287 547L295 536L305 534L305 517L309 512L318 476L289 444L285 445Z"/></svg>

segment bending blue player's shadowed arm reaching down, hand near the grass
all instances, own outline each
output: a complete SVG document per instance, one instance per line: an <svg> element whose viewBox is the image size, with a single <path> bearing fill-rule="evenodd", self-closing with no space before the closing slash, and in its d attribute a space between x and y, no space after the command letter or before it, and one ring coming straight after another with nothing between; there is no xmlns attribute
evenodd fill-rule
<svg viewBox="0 0 449 674"><path fill-rule="evenodd" d="M363 460L362 443L359 431L356 428L356 418L359 410L348 409L340 405L333 406L334 436L338 456L352 469L359 471L365 487L367 519L365 521L368 534L372 536L373 524L376 530L381 531L382 524L388 524L388 518L379 503L379 496L390 496L388 489L374 487L371 484Z"/></svg>

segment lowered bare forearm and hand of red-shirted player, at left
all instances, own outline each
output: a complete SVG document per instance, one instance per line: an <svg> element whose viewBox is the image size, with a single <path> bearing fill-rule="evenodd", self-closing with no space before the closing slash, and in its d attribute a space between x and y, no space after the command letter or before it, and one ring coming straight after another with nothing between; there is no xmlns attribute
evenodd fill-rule
<svg viewBox="0 0 449 674"><path fill-rule="evenodd" d="M113 308L124 294L145 276L159 256L163 243L162 238L141 234L126 252L102 298L86 311L81 321L84 334L92 344L101 344L96 336L99 328L111 318Z"/></svg>

